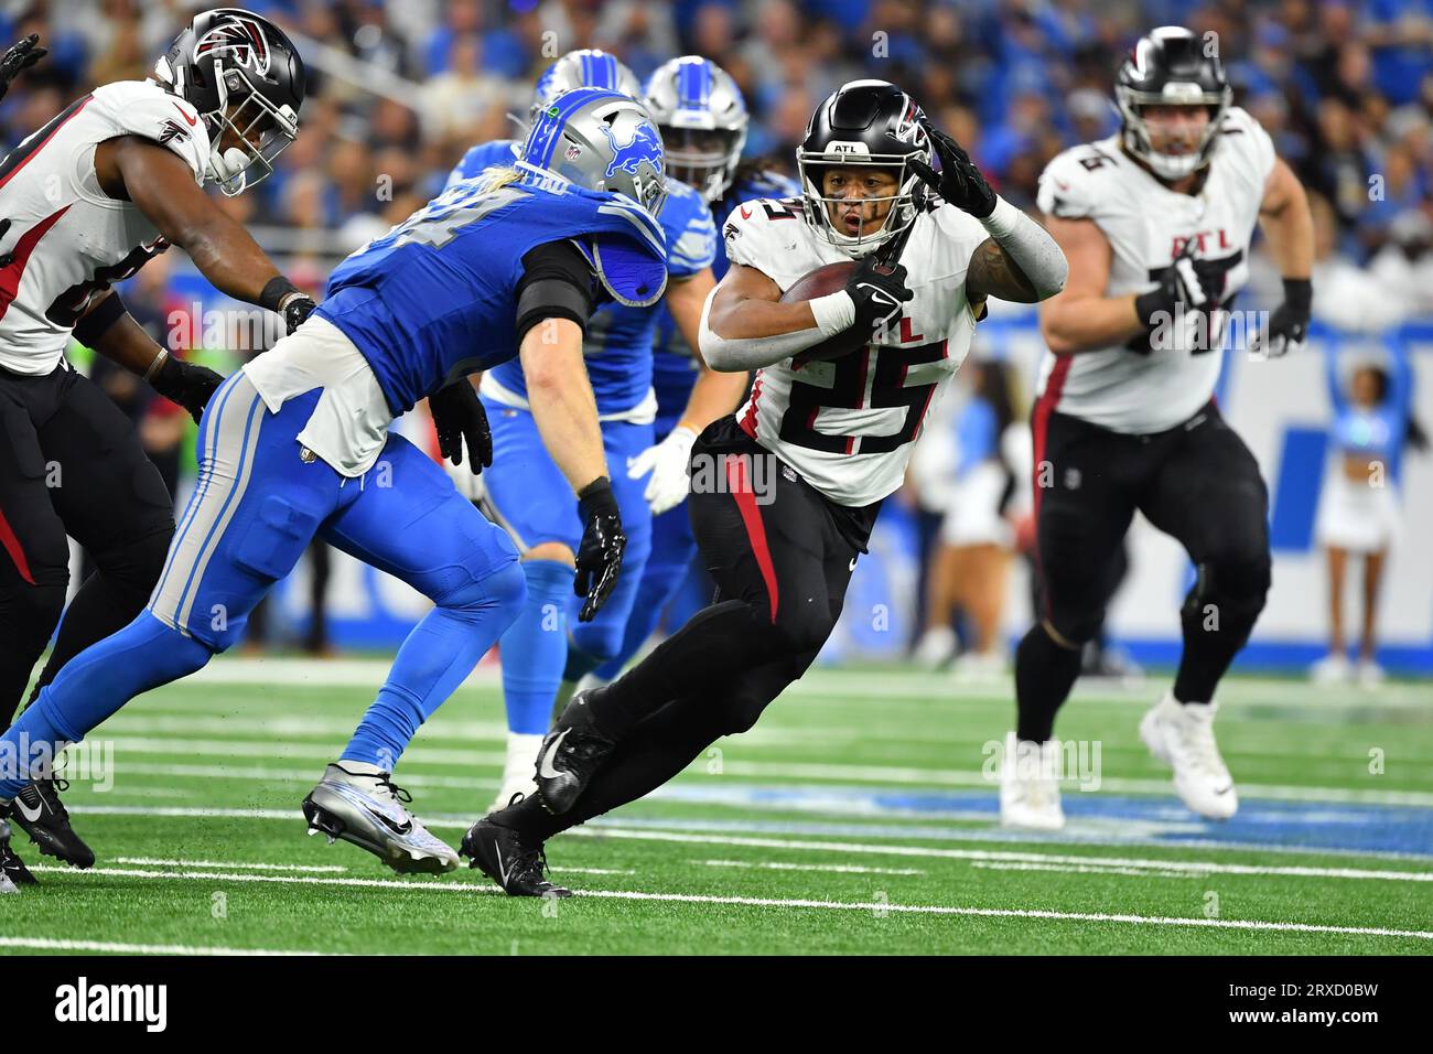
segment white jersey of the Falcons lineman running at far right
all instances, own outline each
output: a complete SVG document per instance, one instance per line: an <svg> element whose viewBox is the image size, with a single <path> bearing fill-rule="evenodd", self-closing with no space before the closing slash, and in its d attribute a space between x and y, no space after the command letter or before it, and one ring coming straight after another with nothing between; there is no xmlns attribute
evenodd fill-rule
<svg viewBox="0 0 1433 1054"><path fill-rule="evenodd" d="M1039 205L1060 219L1093 219L1112 250L1106 297L1148 293L1192 239L1201 274L1224 275L1228 307L1248 281L1250 238L1274 169L1274 143L1260 123L1232 106L1198 194L1176 194L1119 148L1119 136L1073 146L1040 175ZM1171 429L1214 396L1224 351L1225 315L1215 317L1214 340L1145 336L1098 351L1046 353L1040 389L1046 403L1092 424L1142 435ZM1205 324L1179 315L1185 326ZM1201 350L1189 351L1187 348ZM1204 350L1214 347L1215 350Z"/></svg>

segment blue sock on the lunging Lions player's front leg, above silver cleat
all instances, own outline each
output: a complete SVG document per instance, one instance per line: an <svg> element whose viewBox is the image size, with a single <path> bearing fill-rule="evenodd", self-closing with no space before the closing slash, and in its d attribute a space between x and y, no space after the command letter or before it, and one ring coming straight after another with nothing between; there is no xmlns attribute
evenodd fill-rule
<svg viewBox="0 0 1433 1054"><path fill-rule="evenodd" d="M388 680L344 747L341 760L367 761L393 771L418 726L473 673L493 641L517 617L523 592L523 572L517 564L509 564L444 597L403 641Z"/></svg>

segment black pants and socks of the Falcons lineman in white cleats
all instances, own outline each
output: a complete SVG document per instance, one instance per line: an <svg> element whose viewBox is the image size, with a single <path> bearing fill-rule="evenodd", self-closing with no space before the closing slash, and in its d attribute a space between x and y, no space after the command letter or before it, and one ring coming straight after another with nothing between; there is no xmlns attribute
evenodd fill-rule
<svg viewBox="0 0 1433 1054"><path fill-rule="evenodd" d="M1042 611L1016 651L1016 734L1050 739L1079 675L1080 647L1105 621L1118 584L1111 569L1135 509L1178 539L1198 571L1179 612L1174 697L1208 703L1270 587L1268 492L1254 455L1212 402L1148 436L1039 404L1033 429Z"/></svg>

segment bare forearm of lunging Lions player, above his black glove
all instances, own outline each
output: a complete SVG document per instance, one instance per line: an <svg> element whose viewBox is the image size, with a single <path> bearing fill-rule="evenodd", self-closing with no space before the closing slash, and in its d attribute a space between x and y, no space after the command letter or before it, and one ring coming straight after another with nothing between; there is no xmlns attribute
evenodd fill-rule
<svg viewBox="0 0 1433 1054"><path fill-rule="evenodd" d="M553 337L552 343L545 336ZM598 402L582 361L582 328L566 318L539 323L519 353L537 433L573 493L606 476Z"/></svg>

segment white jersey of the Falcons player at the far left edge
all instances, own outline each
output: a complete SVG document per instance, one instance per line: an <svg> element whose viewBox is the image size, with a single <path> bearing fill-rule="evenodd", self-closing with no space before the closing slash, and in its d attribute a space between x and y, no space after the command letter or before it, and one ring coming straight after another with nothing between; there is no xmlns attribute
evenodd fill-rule
<svg viewBox="0 0 1433 1054"><path fill-rule="evenodd" d="M96 87L0 162L0 367L53 370L96 294L169 244L132 202L100 189L95 148L139 135L178 153L203 184L209 135L193 106L153 80Z"/></svg>

